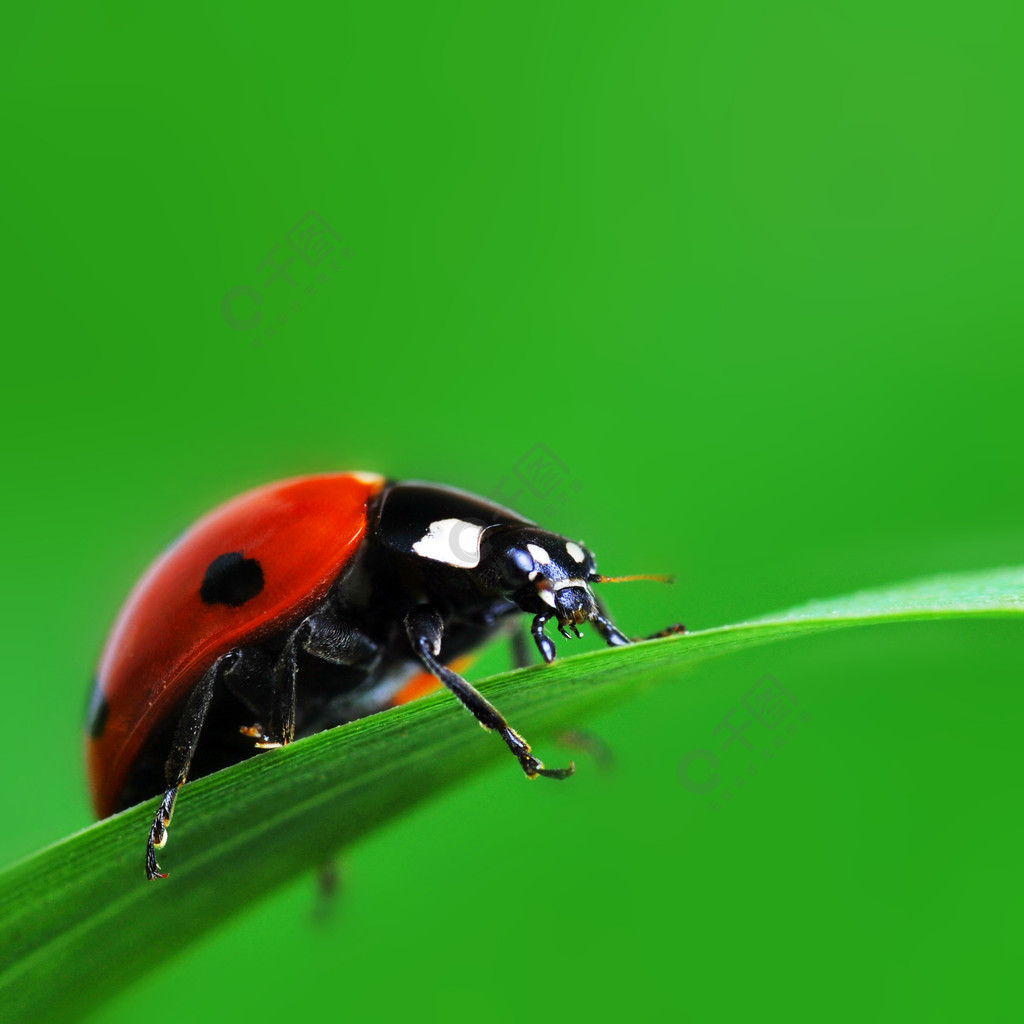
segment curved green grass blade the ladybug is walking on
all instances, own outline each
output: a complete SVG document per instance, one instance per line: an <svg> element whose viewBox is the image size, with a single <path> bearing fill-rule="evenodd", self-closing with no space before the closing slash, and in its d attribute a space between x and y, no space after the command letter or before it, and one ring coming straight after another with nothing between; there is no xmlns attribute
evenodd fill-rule
<svg viewBox="0 0 1024 1024"><path fill-rule="evenodd" d="M950 575L560 658L480 689L535 737L730 650L874 623L1022 614L1024 567ZM499 759L518 771L441 693L185 786L162 858L167 882L142 878L155 801L41 850L0 873L3 1019L81 1016L268 889Z"/></svg>

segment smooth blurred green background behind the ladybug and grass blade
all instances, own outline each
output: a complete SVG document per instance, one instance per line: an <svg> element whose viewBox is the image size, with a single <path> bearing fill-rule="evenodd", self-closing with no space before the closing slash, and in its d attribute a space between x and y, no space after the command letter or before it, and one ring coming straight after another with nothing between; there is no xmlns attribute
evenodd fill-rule
<svg viewBox="0 0 1024 1024"><path fill-rule="evenodd" d="M1024 563L1019 5L5 20L0 862L89 821L86 688L137 574L266 480L488 494L547 445L567 485L520 510L678 578L608 595L635 633ZM503 764L349 851L329 923L311 880L234 879L240 915L94 1020L1012 1019L1022 640L681 676L581 723L614 769ZM682 785L765 673L790 741L728 800Z"/></svg>

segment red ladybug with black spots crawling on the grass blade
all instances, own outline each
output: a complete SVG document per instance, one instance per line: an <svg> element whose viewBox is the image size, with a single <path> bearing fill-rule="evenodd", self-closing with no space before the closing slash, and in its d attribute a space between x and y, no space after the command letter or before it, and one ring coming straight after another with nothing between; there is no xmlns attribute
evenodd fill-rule
<svg viewBox="0 0 1024 1024"><path fill-rule="evenodd" d="M86 723L96 814L163 793L145 876L166 878L156 851L186 778L441 684L527 777L566 778L454 663L516 612L548 663L552 620L631 643L591 590L618 579L638 578L602 577L582 544L451 487L328 473L248 492L157 559L114 624Z"/></svg>

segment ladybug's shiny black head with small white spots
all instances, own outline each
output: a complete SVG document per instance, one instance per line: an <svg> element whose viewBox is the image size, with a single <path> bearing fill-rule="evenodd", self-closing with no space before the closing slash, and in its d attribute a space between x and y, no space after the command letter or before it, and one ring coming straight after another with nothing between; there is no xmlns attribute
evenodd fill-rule
<svg viewBox="0 0 1024 1024"><path fill-rule="evenodd" d="M600 578L594 556L575 541L535 526L492 526L480 545L481 580L531 614L553 615L575 629L598 614L590 585Z"/></svg>

